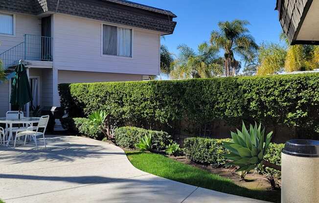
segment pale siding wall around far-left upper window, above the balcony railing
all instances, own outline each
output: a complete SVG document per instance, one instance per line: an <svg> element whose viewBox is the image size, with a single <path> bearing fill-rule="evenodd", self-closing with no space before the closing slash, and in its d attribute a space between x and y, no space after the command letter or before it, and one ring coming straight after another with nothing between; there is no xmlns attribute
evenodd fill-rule
<svg viewBox="0 0 319 203"><path fill-rule="evenodd" d="M2 12L0 13L7 13ZM0 53L24 41L24 34L41 35L41 25L38 17L15 14L16 35L4 36L0 34Z"/></svg>

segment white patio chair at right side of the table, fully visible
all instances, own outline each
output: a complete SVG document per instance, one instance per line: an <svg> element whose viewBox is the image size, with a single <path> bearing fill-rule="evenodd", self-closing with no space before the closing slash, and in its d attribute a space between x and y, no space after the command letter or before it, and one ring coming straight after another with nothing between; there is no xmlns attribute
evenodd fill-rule
<svg viewBox="0 0 319 203"><path fill-rule="evenodd" d="M47 123L49 122L49 116L46 115L46 116L42 116L39 120L39 123L38 123L38 126L36 127L27 127L27 129L23 132L19 132L16 134L16 138L14 140L14 146L13 147L16 147L16 141L17 141L17 138L18 137L21 137L21 136L25 136L24 138L24 144L26 142L26 137L27 136L31 136L31 138L33 138L34 142L35 142L35 147L38 148L38 144L37 144L37 136L43 136L43 142L44 142L44 145L46 147L46 138L45 138L45 133L46 133L46 126L47 126ZM39 129L42 129L43 128L43 132L39 132Z"/></svg>

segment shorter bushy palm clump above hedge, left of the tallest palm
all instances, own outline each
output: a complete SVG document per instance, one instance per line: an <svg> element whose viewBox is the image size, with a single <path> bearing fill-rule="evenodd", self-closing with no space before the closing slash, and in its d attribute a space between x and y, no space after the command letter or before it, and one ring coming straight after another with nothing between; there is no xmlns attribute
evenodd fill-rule
<svg viewBox="0 0 319 203"><path fill-rule="evenodd" d="M211 78L223 73L223 59L218 56L218 49L204 42L198 45L198 51L185 44L179 45L179 57L172 63L171 78Z"/></svg>

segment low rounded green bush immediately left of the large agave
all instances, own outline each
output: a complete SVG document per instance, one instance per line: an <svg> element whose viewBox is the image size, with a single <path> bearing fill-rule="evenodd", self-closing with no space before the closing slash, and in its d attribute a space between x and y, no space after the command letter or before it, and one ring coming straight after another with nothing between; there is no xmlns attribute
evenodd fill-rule
<svg viewBox="0 0 319 203"><path fill-rule="evenodd" d="M184 154L193 162L210 164L213 167L225 166L224 154L230 153L223 141L230 139L187 138L184 141Z"/></svg>

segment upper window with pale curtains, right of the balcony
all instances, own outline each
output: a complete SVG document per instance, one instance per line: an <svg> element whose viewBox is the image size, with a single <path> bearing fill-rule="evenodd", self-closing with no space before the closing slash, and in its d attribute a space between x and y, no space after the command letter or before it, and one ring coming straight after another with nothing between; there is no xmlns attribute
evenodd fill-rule
<svg viewBox="0 0 319 203"><path fill-rule="evenodd" d="M103 54L132 57L132 29L103 25Z"/></svg>

